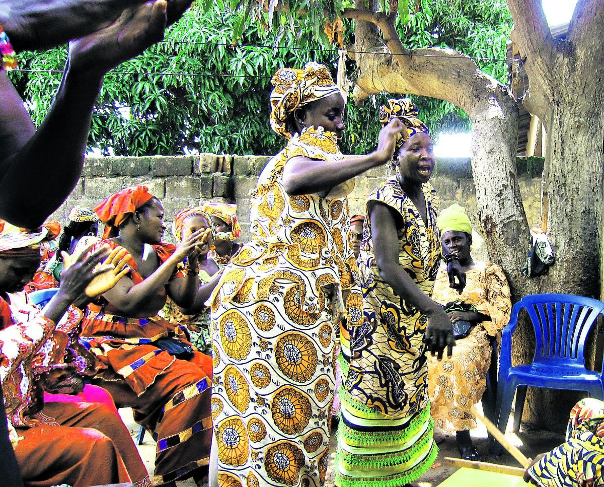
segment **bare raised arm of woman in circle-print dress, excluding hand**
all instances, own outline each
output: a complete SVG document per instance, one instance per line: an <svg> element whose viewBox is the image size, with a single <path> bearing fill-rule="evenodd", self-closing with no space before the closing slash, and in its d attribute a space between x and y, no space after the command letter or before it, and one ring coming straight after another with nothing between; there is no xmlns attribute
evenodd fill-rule
<svg viewBox="0 0 604 487"><path fill-rule="evenodd" d="M283 185L288 195L309 195L327 192L334 186L354 178L372 167L382 164L371 153L342 161L328 162L299 158L286 164L283 170Z"/></svg>

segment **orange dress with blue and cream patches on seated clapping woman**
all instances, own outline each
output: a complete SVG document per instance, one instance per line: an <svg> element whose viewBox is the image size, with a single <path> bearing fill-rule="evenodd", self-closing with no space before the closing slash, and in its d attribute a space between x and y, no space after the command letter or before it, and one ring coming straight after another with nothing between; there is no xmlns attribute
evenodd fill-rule
<svg viewBox="0 0 604 487"><path fill-rule="evenodd" d="M117 246L101 240L95 247L103 244ZM161 262L175 248L152 247ZM133 259L129 265L132 281L142 282ZM179 277L175 271L172 279ZM194 352L188 360L178 359L155 346L167 337L188 343L184 326L159 316L125 317L103 298L88 306L82 323L81 341L100 363L95 384L108 390L118 407L132 407L135 421L156 440L153 485L186 478L210 459L211 358Z"/></svg>

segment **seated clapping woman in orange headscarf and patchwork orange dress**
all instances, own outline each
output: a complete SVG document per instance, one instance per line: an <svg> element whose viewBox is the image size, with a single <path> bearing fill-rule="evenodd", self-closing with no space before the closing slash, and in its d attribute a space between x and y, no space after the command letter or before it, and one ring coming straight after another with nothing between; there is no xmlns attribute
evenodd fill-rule
<svg viewBox="0 0 604 487"><path fill-rule="evenodd" d="M82 340L100 363L94 383L120 407L132 407L135 421L153 432L153 485L190 476L201 485L210 456L212 360L191 346L184 326L157 314L166 296L184 308L209 297L209 291L200 297L197 269L197 246L209 232L200 228L177 247L162 242L164 207L140 185L94 210L105 225L95 246L121 245L132 255L129 276L89 305L82 323Z"/></svg>

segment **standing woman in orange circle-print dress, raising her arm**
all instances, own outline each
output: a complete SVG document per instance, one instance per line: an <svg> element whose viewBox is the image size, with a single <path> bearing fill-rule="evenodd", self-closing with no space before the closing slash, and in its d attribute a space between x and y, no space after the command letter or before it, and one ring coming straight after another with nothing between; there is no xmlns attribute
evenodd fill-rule
<svg viewBox="0 0 604 487"><path fill-rule="evenodd" d="M212 413L222 486L320 486L329 461L335 326L362 321L345 238L350 179L387 163L402 129L344 160L344 98L323 65L272 78L271 127L288 139L252 192L252 241L211 298Z"/></svg>

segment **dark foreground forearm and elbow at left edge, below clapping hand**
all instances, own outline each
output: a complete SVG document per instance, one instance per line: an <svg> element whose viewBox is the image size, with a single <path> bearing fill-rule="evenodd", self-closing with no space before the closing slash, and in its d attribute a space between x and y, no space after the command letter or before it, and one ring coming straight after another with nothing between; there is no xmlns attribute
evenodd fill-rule
<svg viewBox="0 0 604 487"><path fill-rule="evenodd" d="M66 73L47 117L18 152L2 161L0 216L36 227L65 201L82 172L101 77ZM36 191L31 192L35 187Z"/></svg>

